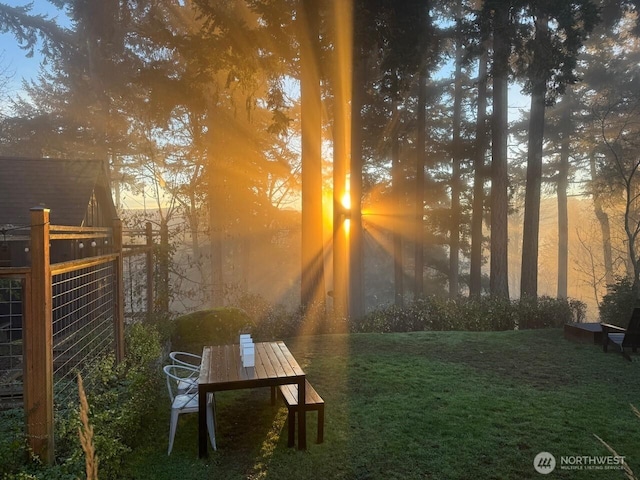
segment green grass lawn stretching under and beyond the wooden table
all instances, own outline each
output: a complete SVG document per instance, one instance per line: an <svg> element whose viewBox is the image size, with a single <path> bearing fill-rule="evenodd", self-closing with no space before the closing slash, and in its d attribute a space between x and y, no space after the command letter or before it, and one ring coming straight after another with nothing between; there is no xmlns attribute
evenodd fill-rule
<svg viewBox="0 0 640 480"><path fill-rule="evenodd" d="M183 416L167 456L169 401L124 461L133 479L622 479L567 470L561 457L608 456L640 476L640 356L628 362L561 330L299 337L287 345L326 402L324 443L287 448L286 410L269 389L216 394L218 451L198 459ZM554 472L533 468L551 452ZM98 452L99 455L100 452Z"/></svg>

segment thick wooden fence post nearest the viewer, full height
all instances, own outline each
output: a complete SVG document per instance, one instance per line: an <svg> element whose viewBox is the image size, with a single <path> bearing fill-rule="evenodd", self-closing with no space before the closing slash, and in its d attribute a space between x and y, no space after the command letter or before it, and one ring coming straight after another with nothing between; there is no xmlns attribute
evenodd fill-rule
<svg viewBox="0 0 640 480"><path fill-rule="evenodd" d="M53 313L49 256L49 209L31 209L31 298L23 318L24 404L29 446L54 460Z"/></svg>

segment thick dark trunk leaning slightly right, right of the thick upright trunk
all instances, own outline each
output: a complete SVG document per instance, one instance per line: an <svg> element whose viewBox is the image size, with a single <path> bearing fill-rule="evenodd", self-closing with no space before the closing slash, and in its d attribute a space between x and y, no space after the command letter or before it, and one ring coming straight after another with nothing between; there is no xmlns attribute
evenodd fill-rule
<svg viewBox="0 0 640 480"><path fill-rule="evenodd" d="M548 37L548 20L538 15L536 40ZM546 42L545 42L546 44ZM547 74L544 71L543 52L538 49L533 56L531 82L531 112L529 116L529 142L527 146L527 186L524 200L524 227L522 230L522 270L520 297L538 297L538 241L540 233L540 188L542 185L542 149L544 140L545 97ZM548 52L544 52L548 54Z"/></svg>

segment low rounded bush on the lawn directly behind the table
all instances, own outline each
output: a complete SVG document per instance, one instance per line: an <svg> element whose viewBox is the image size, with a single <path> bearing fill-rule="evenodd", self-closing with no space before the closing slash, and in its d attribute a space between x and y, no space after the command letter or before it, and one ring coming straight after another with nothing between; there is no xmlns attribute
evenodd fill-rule
<svg viewBox="0 0 640 480"><path fill-rule="evenodd" d="M237 343L241 332L252 333L254 327L249 315L240 308L199 310L175 320L171 345L173 350L201 353L205 345Z"/></svg>

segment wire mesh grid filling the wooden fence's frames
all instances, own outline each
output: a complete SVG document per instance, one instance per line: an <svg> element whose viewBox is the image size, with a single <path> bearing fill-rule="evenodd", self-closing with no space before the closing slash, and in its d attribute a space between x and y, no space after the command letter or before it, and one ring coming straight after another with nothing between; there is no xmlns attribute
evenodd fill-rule
<svg viewBox="0 0 640 480"><path fill-rule="evenodd" d="M147 310L146 257L124 259L124 310L127 320ZM57 404L73 399L76 372L88 375L96 360L115 349L115 261L79 266L52 276L54 393ZM22 406L23 309L25 276L0 272L0 408Z"/></svg>

